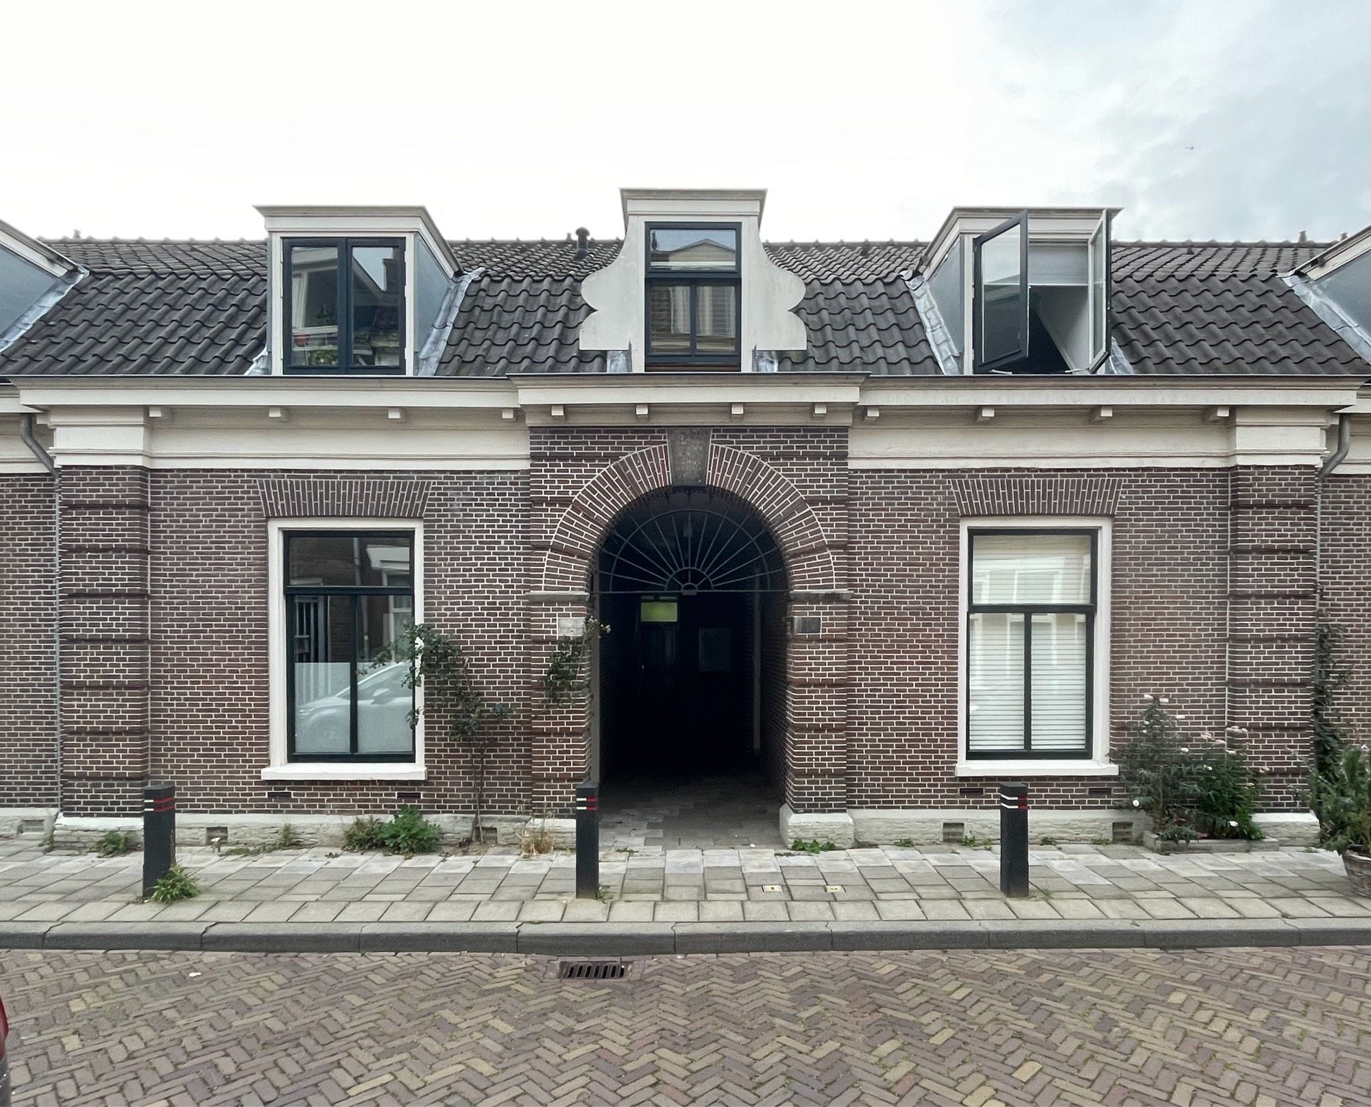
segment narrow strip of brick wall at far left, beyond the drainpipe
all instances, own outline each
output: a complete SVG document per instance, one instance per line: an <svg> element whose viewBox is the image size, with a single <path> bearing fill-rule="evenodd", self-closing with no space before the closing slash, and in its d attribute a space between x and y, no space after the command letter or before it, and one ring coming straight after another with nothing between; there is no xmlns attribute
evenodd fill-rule
<svg viewBox="0 0 1371 1107"><path fill-rule="evenodd" d="M58 801L53 480L0 477L0 807Z"/></svg>

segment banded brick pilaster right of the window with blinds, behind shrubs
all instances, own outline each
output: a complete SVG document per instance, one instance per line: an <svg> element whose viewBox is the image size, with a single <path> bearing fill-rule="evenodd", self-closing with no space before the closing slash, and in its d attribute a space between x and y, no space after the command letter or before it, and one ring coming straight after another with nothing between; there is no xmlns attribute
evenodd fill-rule
<svg viewBox="0 0 1371 1107"><path fill-rule="evenodd" d="M1228 725L1270 774L1264 806L1297 803L1312 725L1315 471L1239 466L1231 478Z"/></svg>

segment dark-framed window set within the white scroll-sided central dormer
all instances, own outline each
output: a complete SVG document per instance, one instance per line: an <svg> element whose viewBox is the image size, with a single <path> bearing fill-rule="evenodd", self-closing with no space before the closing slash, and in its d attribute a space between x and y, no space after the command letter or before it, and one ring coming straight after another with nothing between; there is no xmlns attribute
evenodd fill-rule
<svg viewBox="0 0 1371 1107"><path fill-rule="evenodd" d="M738 369L739 225L647 227L647 363Z"/></svg>

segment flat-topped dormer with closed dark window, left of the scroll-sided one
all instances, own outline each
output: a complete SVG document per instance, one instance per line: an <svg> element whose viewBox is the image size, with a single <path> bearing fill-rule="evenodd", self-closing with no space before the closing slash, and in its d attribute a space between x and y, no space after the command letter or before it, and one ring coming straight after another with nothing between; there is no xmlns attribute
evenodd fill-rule
<svg viewBox="0 0 1371 1107"><path fill-rule="evenodd" d="M265 206L273 374L413 377L461 267L424 207Z"/></svg>

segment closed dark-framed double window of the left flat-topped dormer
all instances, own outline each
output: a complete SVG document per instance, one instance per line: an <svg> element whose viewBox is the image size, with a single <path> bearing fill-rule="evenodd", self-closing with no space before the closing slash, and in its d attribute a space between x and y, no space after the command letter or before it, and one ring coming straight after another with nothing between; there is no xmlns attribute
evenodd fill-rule
<svg viewBox="0 0 1371 1107"><path fill-rule="evenodd" d="M287 373L404 373L404 242L287 238Z"/></svg>

